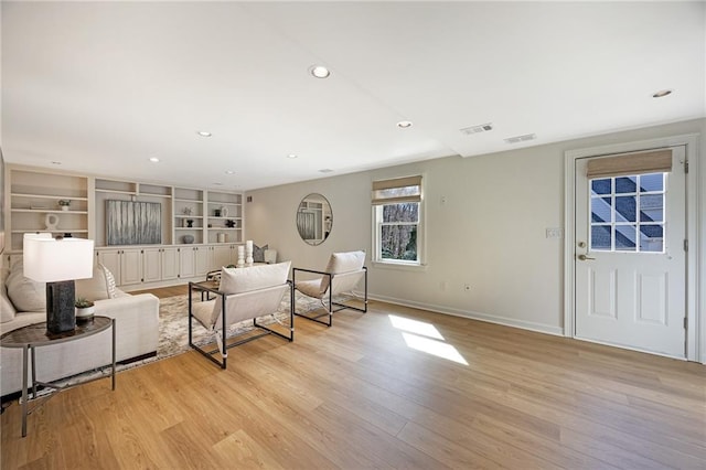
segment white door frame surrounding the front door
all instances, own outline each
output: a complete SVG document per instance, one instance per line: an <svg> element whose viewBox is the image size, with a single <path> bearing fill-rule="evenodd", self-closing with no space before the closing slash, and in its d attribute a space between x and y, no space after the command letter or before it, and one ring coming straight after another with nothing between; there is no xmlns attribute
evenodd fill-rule
<svg viewBox="0 0 706 470"><path fill-rule="evenodd" d="M575 327L575 247L576 247L576 212L575 212L575 175L576 160L587 157L600 157L613 153L625 153L666 147L686 147L688 173L686 174L686 237L688 252L686 253L686 359L706 363L706 319L698 314L698 227L699 201L697 192L698 181L698 140L696 133L665 137L638 142L616 143L586 149L567 150L564 152L564 335L576 337Z"/></svg>

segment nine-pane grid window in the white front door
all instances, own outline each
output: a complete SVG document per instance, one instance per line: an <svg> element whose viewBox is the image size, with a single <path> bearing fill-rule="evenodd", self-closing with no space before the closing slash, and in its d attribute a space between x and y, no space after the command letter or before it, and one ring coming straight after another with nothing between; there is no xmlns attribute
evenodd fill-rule
<svg viewBox="0 0 706 470"><path fill-rule="evenodd" d="M664 253L666 175L590 180L590 249Z"/></svg>

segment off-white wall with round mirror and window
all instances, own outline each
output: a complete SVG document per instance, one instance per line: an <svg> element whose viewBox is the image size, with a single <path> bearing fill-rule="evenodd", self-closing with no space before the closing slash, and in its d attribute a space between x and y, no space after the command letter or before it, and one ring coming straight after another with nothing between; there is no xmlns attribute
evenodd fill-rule
<svg viewBox="0 0 706 470"><path fill-rule="evenodd" d="M280 259L291 259L297 267L323 268L335 250L364 248L371 253L371 181L422 173L427 268L395 270L368 263L371 296L560 334L563 239L546 238L545 229L564 226L564 152L697 132L706 148L706 119L699 119L252 191L247 195L253 202L245 204L247 238L258 245L268 243L278 249ZM704 158L699 163L704 188ZM335 161L331 167L335 168ZM311 192L325 195L333 209L331 236L317 247L304 244L295 225L299 201ZM442 196L446 204L441 204ZM706 191L700 201L703 214ZM700 259L706 266L703 215L700 224ZM463 289L464 284L470 284L470 291ZM704 277L700 292L706 292ZM700 306L704 311L705 295ZM706 328L704 331L706 337Z"/></svg>

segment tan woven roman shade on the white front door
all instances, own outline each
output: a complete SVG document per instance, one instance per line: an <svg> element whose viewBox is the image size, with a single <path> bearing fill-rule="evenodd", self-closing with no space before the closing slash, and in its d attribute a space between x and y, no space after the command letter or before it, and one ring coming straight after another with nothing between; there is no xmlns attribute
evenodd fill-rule
<svg viewBox="0 0 706 470"><path fill-rule="evenodd" d="M670 149L595 158L586 165L586 175L589 179L668 171L672 171L672 150Z"/></svg>

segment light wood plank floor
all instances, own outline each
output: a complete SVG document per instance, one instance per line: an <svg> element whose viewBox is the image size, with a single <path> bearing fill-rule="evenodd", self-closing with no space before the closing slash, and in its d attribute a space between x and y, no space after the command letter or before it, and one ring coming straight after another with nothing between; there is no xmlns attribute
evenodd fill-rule
<svg viewBox="0 0 706 470"><path fill-rule="evenodd" d="M296 327L64 392L24 439L12 404L2 469L706 468L702 365L385 303Z"/></svg>

